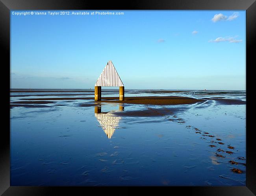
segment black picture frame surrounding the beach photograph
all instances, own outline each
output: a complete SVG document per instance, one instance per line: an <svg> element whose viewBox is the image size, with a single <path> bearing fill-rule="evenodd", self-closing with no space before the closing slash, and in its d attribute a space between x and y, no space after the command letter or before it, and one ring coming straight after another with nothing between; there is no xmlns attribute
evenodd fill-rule
<svg viewBox="0 0 256 196"><path fill-rule="evenodd" d="M256 38L256 1L255 0L136 0L136 1L89 1L89 0L0 0L0 39L2 48L2 72L8 76L10 72L10 10L246 10L246 186L231 187L165 187L171 191L178 191L183 194L187 191L189 195L230 195L230 196L253 196L256 194L256 157L252 122L254 120L253 111L255 109L256 99L253 97L254 91L254 73L252 71L254 59L255 38ZM3 77L1 77L3 80ZM0 156L0 194L7 195L60 195L74 194L75 191L85 191L92 187L19 187L10 186L10 119L7 114L10 113L10 83L4 79L2 87L4 91L4 103L2 104L3 122L6 123L6 129L2 129L1 134L1 156ZM10 129L9 129L10 130ZM105 187L108 188L108 187ZM132 189L125 189L125 192L132 192ZM93 189L94 191L96 189ZM150 189L148 189L150 190ZM116 192L118 193L118 192ZM94 193L95 194L95 193ZM122 194L122 192L120 192Z"/></svg>

